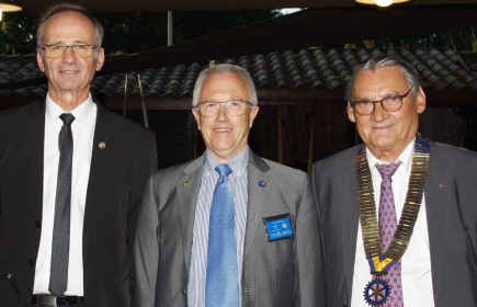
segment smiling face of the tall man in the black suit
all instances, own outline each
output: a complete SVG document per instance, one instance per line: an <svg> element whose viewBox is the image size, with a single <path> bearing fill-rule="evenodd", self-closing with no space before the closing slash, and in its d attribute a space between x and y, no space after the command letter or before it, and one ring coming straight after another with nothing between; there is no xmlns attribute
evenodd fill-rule
<svg viewBox="0 0 477 307"><path fill-rule="evenodd" d="M43 44L95 45L93 23L78 12L55 14L45 25ZM48 78L49 96L55 102L73 100L81 103L89 95L94 72L103 66L104 50L100 49L98 58L94 57L94 49L91 57L79 58L67 48L60 58L42 57L37 53L36 59L39 70Z"/></svg>

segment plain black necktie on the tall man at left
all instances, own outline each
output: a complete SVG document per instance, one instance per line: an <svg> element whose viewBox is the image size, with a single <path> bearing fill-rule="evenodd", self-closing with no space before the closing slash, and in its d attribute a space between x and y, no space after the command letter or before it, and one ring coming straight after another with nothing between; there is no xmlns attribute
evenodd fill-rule
<svg viewBox="0 0 477 307"><path fill-rule="evenodd" d="M75 116L64 113L58 137L59 163L56 185L55 220L53 226L52 269L49 275L49 292L56 297L61 296L68 286L69 259L69 219L71 206L71 163L72 134L71 123Z"/></svg>

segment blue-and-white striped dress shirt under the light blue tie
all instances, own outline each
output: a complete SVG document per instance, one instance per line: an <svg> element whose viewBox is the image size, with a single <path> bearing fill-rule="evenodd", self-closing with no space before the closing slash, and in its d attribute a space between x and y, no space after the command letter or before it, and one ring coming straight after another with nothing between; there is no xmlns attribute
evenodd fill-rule
<svg viewBox="0 0 477 307"><path fill-rule="evenodd" d="M237 240L237 273L239 286L239 302L241 302L241 272L243 263L243 241L247 224L248 204L248 162L249 147L246 146L227 164L232 170L228 177L235 202L235 237ZM205 152L204 172L195 207L194 229L191 250L191 266L189 272L188 305L191 307L205 306L205 280L207 269L208 248L208 217L211 215L212 198L218 181L215 168L220 162L208 151ZM231 235L231 234L230 234Z"/></svg>

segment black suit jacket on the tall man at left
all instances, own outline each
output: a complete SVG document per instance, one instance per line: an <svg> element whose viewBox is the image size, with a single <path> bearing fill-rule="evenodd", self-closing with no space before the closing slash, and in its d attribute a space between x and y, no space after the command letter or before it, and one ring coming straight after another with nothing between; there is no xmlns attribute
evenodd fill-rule
<svg viewBox="0 0 477 307"><path fill-rule="evenodd" d="M0 273L14 275L26 302L42 231L44 130L44 101L0 113ZM137 213L157 169L155 135L98 104L92 148L78 242L83 245L84 306L129 306ZM0 306L20 306L7 281L0 281Z"/></svg>

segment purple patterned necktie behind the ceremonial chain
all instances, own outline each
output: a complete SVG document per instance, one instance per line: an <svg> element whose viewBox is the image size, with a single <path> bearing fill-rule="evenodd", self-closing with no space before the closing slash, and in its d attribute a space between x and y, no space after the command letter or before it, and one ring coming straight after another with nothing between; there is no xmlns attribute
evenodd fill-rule
<svg viewBox="0 0 477 307"><path fill-rule="evenodd" d="M401 164L401 161L391 164L377 164L376 168L383 178L381 183L379 196L379 237L383 253L387 250L393 240L397 228L396 208L394 204L393 193L393 174ZM404 306L402 300L402 283L401 283L401 263L398 261L387 273L386 281L388 282L391 294L388 298L387 307Z"/></svg>

